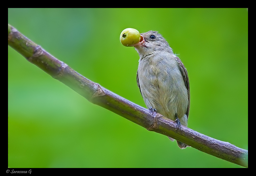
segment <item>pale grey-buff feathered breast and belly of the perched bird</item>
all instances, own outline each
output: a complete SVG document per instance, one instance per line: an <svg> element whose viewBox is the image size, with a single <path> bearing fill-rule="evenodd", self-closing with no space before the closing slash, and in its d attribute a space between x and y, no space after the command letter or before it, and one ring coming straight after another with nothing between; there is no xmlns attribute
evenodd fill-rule
<svg viewBox="0 0 256 176"><path fill-rule="evenodd" d="M140 62L138 76L147 107L153 106L160 114L172 119L175 113L185 114L188 98L177 63L174 59L167 61Z"/></svg>

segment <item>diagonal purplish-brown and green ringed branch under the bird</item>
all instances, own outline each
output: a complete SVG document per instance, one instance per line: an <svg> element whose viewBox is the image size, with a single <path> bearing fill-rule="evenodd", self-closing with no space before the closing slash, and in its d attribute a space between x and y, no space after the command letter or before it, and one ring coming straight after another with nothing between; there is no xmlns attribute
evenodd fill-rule
<svg viewBox="0 0 256 176"><path fill-rule="evenodd" d="M9 24L8 45L23 55L29 62L69 86L91 103L104 107L149 131L172 137L207 154L248 167L248 150L208 137L185 126L182 126L181 130L176 130L176 123L170 119L158 113L152 115L152 111L136 105L83 77Z"/></svg>

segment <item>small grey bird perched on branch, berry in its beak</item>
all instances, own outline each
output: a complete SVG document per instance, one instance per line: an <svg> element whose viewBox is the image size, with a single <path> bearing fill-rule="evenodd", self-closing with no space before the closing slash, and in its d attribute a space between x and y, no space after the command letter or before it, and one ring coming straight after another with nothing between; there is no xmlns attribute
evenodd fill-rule
<svg viewBox="0 0 256 176"><path fill-rule="evenodd" d="M141 33L141 40L131 46L139 53L137 84L147 108L177 122L176 130L187 126L190 89L181 60L157 31ZM181 149L187 147L180 141L177 144Z"/></svg>

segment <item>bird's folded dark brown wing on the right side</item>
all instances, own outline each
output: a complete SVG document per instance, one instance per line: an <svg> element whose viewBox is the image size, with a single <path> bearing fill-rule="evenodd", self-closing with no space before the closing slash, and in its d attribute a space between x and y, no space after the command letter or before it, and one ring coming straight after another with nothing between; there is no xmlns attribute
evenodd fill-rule
<svg viewBox="0 0 256 176"><path fill-rule="evenodd" d="M187 117L189 117L189 109L190 109L190 88L189 88L189 76L187 75L187 69L185 68L185 66L183 65L183 63L181 62L181 60L178 57L175 57L175 59L177 60L177 62L179 63L179 70L181 71L181 74L183 76L183 80L185 82L185 86L187 88L187 97L189 99L189 104L187 106ZM138 73L137 73L138 76ZM137 78L138 80L138 78Z"/></svg>

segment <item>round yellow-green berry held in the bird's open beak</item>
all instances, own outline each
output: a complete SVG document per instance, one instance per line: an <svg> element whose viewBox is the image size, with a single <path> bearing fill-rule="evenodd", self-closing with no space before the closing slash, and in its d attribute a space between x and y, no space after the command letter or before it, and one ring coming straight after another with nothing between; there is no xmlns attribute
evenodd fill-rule
<svg viewBox="0 0 256 176"><path fill-rule="evenodd" d="M141 34L139 31L133 28L126 28L120 34L120 42L123 46L130 46L138 43L141 39Z"/></svg>

